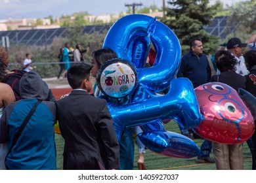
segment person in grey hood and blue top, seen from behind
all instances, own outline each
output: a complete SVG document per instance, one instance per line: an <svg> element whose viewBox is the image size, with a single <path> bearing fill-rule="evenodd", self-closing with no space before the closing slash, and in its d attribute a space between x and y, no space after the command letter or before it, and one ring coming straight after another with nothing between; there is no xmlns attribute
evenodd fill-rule
<svg viewBox="0 0 256 183"><path fill-rule="evenodd" d="M56 170L56 148L53 126L56 123L56 101L49 99L49 87L34 71L20 80L21 100L9 104L0 119L0 143L13 143L5 165L10 170ZM16 133L30 110L41 101L15 142ZM9 150L10 151L10 150Z"/></svg>

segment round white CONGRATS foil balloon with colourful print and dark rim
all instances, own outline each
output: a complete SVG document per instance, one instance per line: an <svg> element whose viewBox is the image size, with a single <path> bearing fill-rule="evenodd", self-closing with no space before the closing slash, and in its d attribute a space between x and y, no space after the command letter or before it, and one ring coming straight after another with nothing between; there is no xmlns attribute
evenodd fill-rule
<svg viewBox="0 0 256 183"><path fill-rule="evenodd" d="M98 88L104 95L121 98L129 95L137 83L137 71L131 62L113 59L104 63L96 78Z"/></svg>

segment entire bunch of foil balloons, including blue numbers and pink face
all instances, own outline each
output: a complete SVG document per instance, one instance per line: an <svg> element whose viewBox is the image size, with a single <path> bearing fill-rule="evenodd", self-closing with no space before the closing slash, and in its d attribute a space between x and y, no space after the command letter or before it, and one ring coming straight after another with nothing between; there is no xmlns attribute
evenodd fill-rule
<svg viewBox="0 0 256 183"><path fill-rule="evenodd" d="M157 55L154 65L146 68L151 43ZM182 129L194 128L203 138L217 142L239 143L252 135L253 116L232 88L209 83L194 90L187 78L175 78L181 44L156 18L142 14L120 18L108 31L103 48L114 50L118 58L100 67L98 88L109 99L126 99L121 106L108 100L117 139L123 130L140 126L140 140L148 149L163 156L192 158L200 153L196 143L166 131L162 121L174 119ZM158 94L167 88L165 95Z"/></svg>

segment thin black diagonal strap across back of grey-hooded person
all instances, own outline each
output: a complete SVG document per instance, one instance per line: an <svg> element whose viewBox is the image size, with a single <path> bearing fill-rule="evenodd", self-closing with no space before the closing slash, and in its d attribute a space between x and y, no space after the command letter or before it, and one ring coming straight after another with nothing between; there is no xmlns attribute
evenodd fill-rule
<svg viewBox="0 0 256 183"><path fill-rule="evenodd" d="M24 122L22 123L22 125L20 126L20 129L18 129L15 137L14 137L14 140L12 142L12 145L11 147L9 148L9 151L7 153L7 156L8 154L12 151L12 148L14 147L14 145L16 144L16 142L18 141L18 139L20 138L20 135L22 134L22 131L24 130L24 128L26 127L26 124L28 124L28 121L30 120L30 118L32 117L33 115L33 112L35 112L35 108L37 108L37 106L39 105L39 103L41 103L42 101L37 101L37 103L33 106L32 110L30 110L30 112L28 113L28 116L25 118ZM7 156L5 157L5 160L7 158Z"/></svg>

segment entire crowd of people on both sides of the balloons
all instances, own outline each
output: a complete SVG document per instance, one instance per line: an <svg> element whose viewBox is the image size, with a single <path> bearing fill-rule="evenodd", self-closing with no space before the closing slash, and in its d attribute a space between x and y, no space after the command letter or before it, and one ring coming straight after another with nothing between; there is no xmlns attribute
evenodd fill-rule
<svg viewBox="0 0 256 183"><path fill-rule="evenodd" d="M194 88L207 82L223 82L238 91L243 88L256 97L256 35L246 43L232 38L214 55L216 75L212 75L200 38L190 40L190 52L181 58L177 77L188 78ZM242 54L243 48L244 56ZM140 127L126 129L118 142L108 105L92 77L114 58L114 50L102 48L92 54L91 65L83 63L81 44L72 50L69 43L60 48L58 78L66 77L72 92L56 101L53 93L32 67L26 54L22 70L9 71L9 55L0 48L0 169L56 169L53 126L58 120L64 138L63 169L133 169L133 133ZM145 67L154 67L154 46ZM72 62L73 59L73 62ZM62 71L64 70L64 73ZM93 90L93 95L89 94ZM164 93L164 92L163 92ZM111 99L120 103L120 99ZM190 138L192 131L182 131ZM256 135L248 139L255 169ZM137 138L139 169L146 169L145 147ZM210 158L211 151L213 157ZM215 163L216 169L244 169L242 144L221 144L204 140L200 163Z"/></svg>

